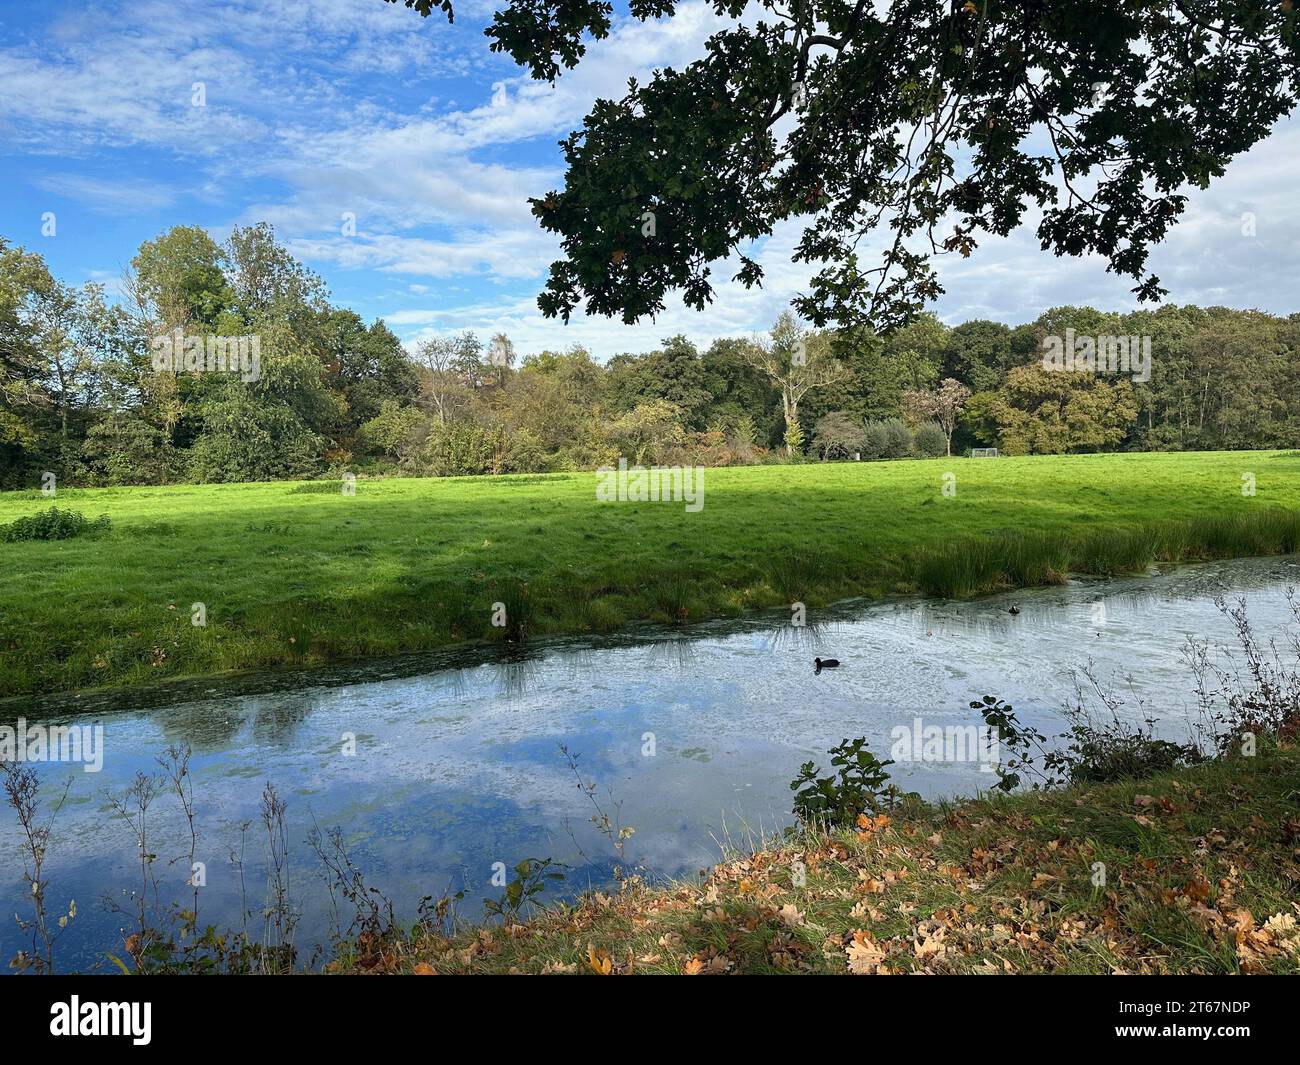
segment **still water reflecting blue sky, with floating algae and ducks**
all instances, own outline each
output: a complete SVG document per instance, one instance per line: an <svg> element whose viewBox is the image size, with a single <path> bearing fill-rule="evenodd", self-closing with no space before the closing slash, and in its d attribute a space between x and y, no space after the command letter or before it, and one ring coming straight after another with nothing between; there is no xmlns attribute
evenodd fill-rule
<svg viewBox="0 0 1300 1065"><path fill-rule="evenodd" d="M844 603L809 631L766 618L682 631L644 631L604 641L556 641L530 657L430 657L307 674L244 677L182 694L109 700L72 697L13 703L32 724L101 724L103 771L40 766L53 797L72 778L47 863L51 908L77 900L78 917L57 947L62 970L110 969L129 923L105 896L130 905L139 883L134 837L114 818L138 771L159 772L169 744L192 749L204 923L238 923L240 891L230 862L240 824L248 904L265 876L257 823L272 782L289 802L291 889L302 909L298 941L329 934L311 826L339 826L367 879L412 914L428 895L464 889L460 913L476 917L499 896L494 862L551 857L568 867L558 889L607 882L614 853L589 823L560 745L621 824L636 828L628 860L647 875L676 876L711 865L719 843L745 843L790 821L789 782L845 737L866 736L881 758L890 730L976 720L967 703L996 694L1044 732L1062 724L1070 671L1092 662L1123 689L1134 719L1154 711L1171 739L1190 735L1188 637L1230 642L1216 596L1244 596L1261 632L1290 619L1296 558L1247 559L1153 571L1143 577L1072 581L974 602ZM1019 614L1009 612L1017 606ZM812 658L842 663L820 675ZM1145 701L1145 710L1139 706ZM344 736L356 754L343 754ZM647 753L653 746L653 754ZM991 776L971 763L909 762L890 769L927 797L968 795ZM160 895L185 897L187 832L174 797L151 810ZM0 953L23 943L10 914L26 905L17 826L0 811Z"/></svg>

